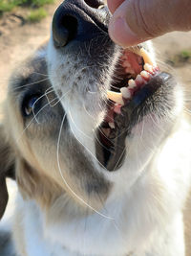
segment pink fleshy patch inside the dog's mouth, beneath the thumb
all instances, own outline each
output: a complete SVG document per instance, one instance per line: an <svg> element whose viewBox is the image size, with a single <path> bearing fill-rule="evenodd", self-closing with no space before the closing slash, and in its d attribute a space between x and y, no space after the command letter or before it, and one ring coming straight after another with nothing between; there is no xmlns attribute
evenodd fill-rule
<svg viewBox="0 0 191 256"><path fill-rule="evenodd" d="M125 51L121 57L121 60L122 66L125 68L127 73L138 76L138 74L142 71L142 58L137 54Z"/></svg>

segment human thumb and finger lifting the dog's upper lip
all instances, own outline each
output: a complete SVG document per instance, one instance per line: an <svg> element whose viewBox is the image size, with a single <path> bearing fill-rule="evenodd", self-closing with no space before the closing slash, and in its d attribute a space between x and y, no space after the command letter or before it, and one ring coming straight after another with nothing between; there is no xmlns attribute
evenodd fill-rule
<svg viewBox="0 0 191 256"><path fill-rule="evenodd" d="M124 48L172 31L191 30L191 0L107 0L111 38Z"/></svg>

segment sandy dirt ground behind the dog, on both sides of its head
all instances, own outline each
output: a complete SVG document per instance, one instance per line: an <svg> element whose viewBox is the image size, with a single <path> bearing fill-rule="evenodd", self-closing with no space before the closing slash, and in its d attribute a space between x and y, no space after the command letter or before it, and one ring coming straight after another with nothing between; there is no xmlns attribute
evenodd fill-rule
<svg viewBox="0 0 191 256"><path fill-rule="evenodd" d="M11 70L32 52L50 35L53 12L57 5L49 6L49 15L36 24L25 24L22 12L12 12L0 19L0 101L5 98L5 91ZM180 81L191 86L191 59L175 61L172 59L182 51L191 51L191 33L172 33L154 40L161 69L174 72ZM172 70L174 69L174 71Z"/></svg>

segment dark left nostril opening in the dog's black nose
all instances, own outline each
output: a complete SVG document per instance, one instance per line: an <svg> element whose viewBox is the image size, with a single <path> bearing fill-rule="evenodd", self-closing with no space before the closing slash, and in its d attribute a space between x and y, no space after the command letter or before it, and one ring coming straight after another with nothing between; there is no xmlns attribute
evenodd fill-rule
<svg viewBox="0 0 191 256"><path fill-rule="evenodd" d="M53 41L56 47L64 47L72 41L77 34L78 21L72 15L60 15L55 12L53 16Z"/></svg>

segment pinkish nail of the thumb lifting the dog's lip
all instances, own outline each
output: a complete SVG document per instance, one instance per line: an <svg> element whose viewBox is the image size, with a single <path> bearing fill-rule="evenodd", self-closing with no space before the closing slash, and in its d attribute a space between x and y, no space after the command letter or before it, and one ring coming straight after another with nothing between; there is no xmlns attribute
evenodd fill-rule
<svg viewBox="0 0 191 256"><path fill-rule="evenodd" d="M126 48L139 43L138 36L129 28L125 18L112 18L109 25L109 35L114 42Z"/></svg>

